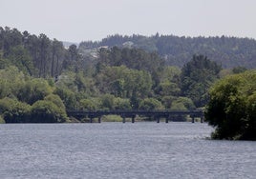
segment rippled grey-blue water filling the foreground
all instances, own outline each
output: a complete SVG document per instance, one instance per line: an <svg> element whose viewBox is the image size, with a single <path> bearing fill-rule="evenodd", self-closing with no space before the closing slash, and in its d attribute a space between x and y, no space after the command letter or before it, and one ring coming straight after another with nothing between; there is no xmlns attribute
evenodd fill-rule
<svg viewBox="0 0 256 179"><path fill-rule="evenodd" d="M0 125L0 178L255 178L256 142L200 123Z"/></svg>

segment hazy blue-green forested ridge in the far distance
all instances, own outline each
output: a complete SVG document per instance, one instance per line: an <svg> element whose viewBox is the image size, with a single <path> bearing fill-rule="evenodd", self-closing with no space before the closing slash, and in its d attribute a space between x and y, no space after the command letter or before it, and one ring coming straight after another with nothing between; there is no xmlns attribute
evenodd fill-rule
<svg viewBox="0 0 256 179"><path fill-rule="evenodd" d="M99 42L82 42L79 49L93 49L102 46L133 47L147 51L156 51L164 57L166 64L182 68L194 54L203 54L221 64L224 69L238 66L247 69L256 68L256 41L249 38L227 36L216 37L178 37L156 34L150 37L142 35L112 35Z"/></svg>

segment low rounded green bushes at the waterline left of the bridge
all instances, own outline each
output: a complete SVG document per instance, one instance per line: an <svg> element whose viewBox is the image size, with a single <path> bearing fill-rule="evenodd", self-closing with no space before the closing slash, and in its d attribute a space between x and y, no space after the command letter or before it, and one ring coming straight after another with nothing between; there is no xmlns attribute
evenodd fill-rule
<svg viewBox="0 0 256 179"><path fill-rule="evenodd" d="M36 101L32 107L16 99L0 99L0 110L6 123L65 122L67 114L61 99L54 94Z"/></svg>

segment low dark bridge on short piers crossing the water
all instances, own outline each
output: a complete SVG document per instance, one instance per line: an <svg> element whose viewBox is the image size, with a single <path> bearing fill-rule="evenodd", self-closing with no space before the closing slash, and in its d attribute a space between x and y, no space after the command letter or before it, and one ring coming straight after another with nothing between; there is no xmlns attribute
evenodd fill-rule
<svg viewBox="0 0 256 179"><path fill-rule="evenodd" d="M195 118L200 118L203 123L203 110L71 110L68 111L68 116L75 117L77 119L89 118L90 123L93 123L93 119L97 118L98 123L101 122L103 115L115 114L122 117L122 122L125 123L126 118L131 118L132 123L135 123L136 116L154 117L157 123L160 123L160 118L165 118L165 123L174 116L188 115L192 119L192 123L195 122Z"/></svg>

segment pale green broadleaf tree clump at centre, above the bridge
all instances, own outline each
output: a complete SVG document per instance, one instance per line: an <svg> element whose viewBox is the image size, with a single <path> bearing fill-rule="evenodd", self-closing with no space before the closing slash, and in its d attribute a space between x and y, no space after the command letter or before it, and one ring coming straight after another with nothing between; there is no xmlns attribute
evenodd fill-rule
<svg viewBox="0 0 256 179"><path fill-rule="evenodd" d="M99 91L117 97L147 96L152 89L151 75L143 70L130 70L124 66L107 67L96 76Z"/></svg>

